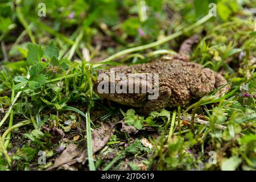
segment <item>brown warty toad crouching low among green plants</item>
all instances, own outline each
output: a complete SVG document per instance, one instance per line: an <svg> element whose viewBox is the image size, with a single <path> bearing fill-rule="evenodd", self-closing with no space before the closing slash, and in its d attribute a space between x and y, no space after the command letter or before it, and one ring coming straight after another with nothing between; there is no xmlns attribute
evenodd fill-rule
<svg viewBox="0 0 256 182"><path fill-rule="evenodd" d="M104 76L99 77L102 74ZM114 79L111 78L111 74L113 74ZM141 75L150 74L158 75L158 81L148 78L144 80L141 77ZM129 82L127 78L131 76L139 79L133 79ZM225 78L219 73L204 68L200 64L189 62L187 56L178 54L163 56L160 60L151 63L136 64L129 67L121 66L108 70L101 69L98 80L94 84L94 91L101 97L119 104L142 107L141 111L148 114L151 111L163 109L169 103L172 106L186 106L193 97L201 98L226 83ZM127 87L124 88L124 85ZM131 90L129 90L129 86L131 86ZM140 92L138 90L136 92L136 86ZM142 92L143 88L148 88L148 90ZM152 89L156 88L158 97L149 99L148 96L153 94ZM223 95L229 89L230 86L226 85L217 94Z"/></svg>

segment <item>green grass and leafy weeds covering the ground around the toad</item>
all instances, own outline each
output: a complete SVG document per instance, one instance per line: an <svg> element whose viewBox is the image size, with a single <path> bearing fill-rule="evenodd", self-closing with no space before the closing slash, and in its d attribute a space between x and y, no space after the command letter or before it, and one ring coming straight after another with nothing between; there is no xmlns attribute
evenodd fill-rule
<svg viewBox="0 0 256 182"><path fill-rule="evenodd" d="M86 151L78 170L255 170L256 2L216 2L229 13L211 17L198 1L75 0L44 1L47 17L39 18L39 1L0 3L0 169L51 168L73 143ZM214 90L144 117L94 94L98 69L174 54L194 34L191 61L229 81L225 96ZM94 152L102 123L115 131ZM54 129L65 134L57 142Z"/></svg>

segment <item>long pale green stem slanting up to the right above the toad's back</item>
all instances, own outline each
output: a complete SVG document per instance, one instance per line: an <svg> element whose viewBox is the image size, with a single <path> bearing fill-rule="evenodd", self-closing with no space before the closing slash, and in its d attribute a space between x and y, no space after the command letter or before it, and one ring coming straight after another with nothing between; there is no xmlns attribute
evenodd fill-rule
<svg viewBox="0 0 256 182"><path fill-rule="evenodd" d="M99 61L98 63L94 64L93 67L98 67L98 66L100 66L102 64L106 64L106 63L108 63L108 61L112 61L114 59L117 59L118 57L121 57L121 56L126 55L126 54L131 53L131 52L142 51L144 49L160 46L160 45L162 45L162 44L164 44L164 43L166 43L166 42L168 42L168 41L170 41L170 40L172 40L174 38L177 38L178 36L184 34L184 32L190 31L193 28L195 28L197 26L200 26L204 22L207 22L207 20L209 20L211 17L212 16L210 16L208 14L208 15L204 16L203 18L201 18L200 20L198 20L196 23L191 24L191 26L189 26L187 28L184 28L184 30L175 32L174 34L169 35L166 38L163 38L163 39L158 40L156 42L153 42L153 43L150 43L150 44L146 44L146 45L143 45L143 46L138 46L138 47L133 47L133 48L125 49L123 51L117 52L114 55L109 56L108 58L106 58L106 59L104 59L102 61Z"/></svg>

